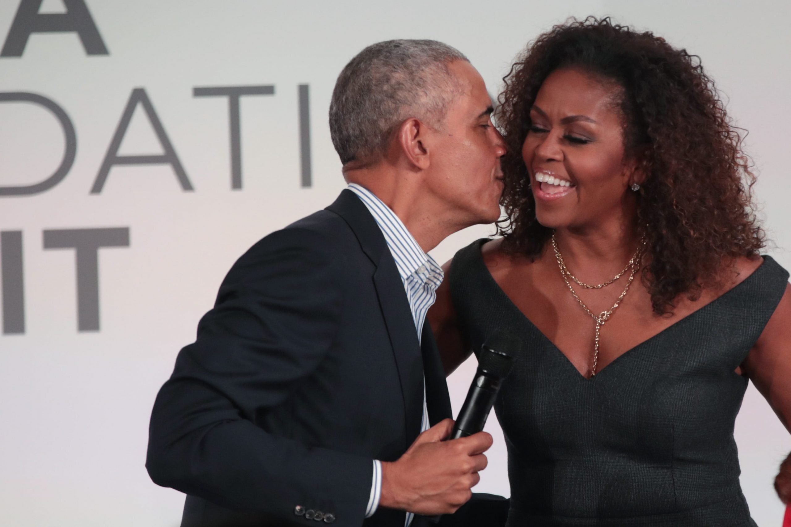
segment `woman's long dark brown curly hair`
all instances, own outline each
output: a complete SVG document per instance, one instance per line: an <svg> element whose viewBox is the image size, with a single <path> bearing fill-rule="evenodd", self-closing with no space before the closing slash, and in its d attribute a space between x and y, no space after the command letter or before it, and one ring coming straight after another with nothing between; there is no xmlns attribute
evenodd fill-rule
<svg viewBox="0 0 791 527"><path fill-rule="evenodd" d="M643 282L655 313L672 312L680 294L698 298L722 283L729 263L759 253L764 233L752 206L751 161L699 57L651 32L594 17L543 33L503 78L496 119L508 146L502 158L506 218L498 222L506 252L534 259L552 235L536 220L521 150L539 88L566 67L621 89L626 156L645 173L637 222L648 252Z"/></svg>

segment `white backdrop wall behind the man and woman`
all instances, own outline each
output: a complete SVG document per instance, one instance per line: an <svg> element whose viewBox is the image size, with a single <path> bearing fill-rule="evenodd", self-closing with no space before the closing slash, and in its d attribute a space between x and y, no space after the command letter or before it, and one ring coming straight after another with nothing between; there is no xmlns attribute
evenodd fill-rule
<svg viewBox="0 0 791 527"><path fill-rule="evenodd" d="M76 137L74 165L59 184L35 195L0 195L0 230L21 232L6 235L2 249L10 314L0 335L0 525L178 525L182 495L151 483L143 465L154 396L237 256L325 207L343 188L327 127L331 90L345 63L378 40L452 44L481 71L491 93L528 40L570 15L611 14L687 47L727 95L736 123L750 131L747 150L760 173L756 193L776 245L770 254L791 268L784 250L791 247L785 173L791 3L785 0L87 4L108 55L86 55L75 32L49 32L33 33L21 56L0 57L0 93L54 100ZM40 13L64 13L66 5L44 0ZM0 40L18 6L20 0L0 0ZM302 84L309 85L309 188L301 187ZM233 190L228 99L194 97L193 89L249 85L274 85L274 95L240 100L242 188ZM115 165L101 191L91 193L135 88L145 89L193 191L183 190L171 165ZM119 155L163 153L142 110L136 108ZM0 104L0 187L46 179L64 146L51 112ZM44 248L44 231L96 228L128 229L129 243L99 249L100 327L78 331L75 251ZM433 256L445 261L492 232L479 226L457 233ZM19 237L21 268L12 243ZM89 260L80 264L83 271ZM83 273L83 284L91 276ZM19 298L10 298L20 283L22 310ZM474 368L467 362L450 377L455 411ZM494 418L488 427L496 442L477 490L508 495L505 446ZM755 520L780 525L782 506L771 483L791 438L752 387L736 439Z"/></svg>

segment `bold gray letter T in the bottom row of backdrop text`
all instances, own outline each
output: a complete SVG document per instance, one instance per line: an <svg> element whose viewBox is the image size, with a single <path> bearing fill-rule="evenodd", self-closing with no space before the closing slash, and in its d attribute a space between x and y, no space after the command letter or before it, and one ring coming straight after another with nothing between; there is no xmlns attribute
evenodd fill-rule
<svg viewBox="0 0 791 527"><path fill-rule="evenodd" d="M129 228L44 231L44 248L73 248L77 267L77 326L99 331L99 248L129 247Z"/></svg>

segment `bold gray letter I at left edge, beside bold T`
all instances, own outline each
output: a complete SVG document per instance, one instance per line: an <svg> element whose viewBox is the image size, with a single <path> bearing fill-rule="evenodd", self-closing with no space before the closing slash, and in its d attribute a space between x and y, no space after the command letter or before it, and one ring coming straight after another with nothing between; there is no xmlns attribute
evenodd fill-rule
<svg viewBox="0 0 791 527"><path fill-rule="evenodd" d="M25 286L22 276L22 231L0 233L3 335L25 332Z"/></svg>

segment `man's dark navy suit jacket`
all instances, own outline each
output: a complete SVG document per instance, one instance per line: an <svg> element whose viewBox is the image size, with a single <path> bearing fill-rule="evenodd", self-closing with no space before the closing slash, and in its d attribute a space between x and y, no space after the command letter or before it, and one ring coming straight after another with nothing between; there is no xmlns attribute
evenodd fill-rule
<svg viewBox="0 0 791 527"><path fill-rule="evenodd" d="M146 468L187 494L183 527L403 527L365 519L373 459L395 461L451 415L437 346L422 349L373 216L344 190L233 265L157 395ZM416 518L418 527L425 518Z"/></svg>

